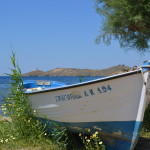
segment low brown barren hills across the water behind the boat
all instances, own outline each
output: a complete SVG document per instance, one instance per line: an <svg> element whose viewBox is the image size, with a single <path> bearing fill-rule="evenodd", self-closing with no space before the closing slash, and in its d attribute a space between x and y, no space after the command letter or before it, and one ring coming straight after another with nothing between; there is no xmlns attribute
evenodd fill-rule
<svg viewBox="0 0 150 150"><path fill-rule="evenodd" d="M23 76L109 76L131 70L125 65L113 66L107 69L76 69L76 68L56 68L49 71L34 70L23 74Z"/></svg>

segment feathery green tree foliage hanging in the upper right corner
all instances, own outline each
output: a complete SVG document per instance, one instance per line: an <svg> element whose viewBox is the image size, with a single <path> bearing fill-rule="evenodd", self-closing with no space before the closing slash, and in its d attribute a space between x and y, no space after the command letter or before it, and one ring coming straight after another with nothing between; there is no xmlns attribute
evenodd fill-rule
<svg viewBox="0 0 150 150"><path fill-rule="evenodd" d="M117 39L125 49L146 52L150 48L150 1L96 0L96 11L103 18L96 42Z"/></svg>

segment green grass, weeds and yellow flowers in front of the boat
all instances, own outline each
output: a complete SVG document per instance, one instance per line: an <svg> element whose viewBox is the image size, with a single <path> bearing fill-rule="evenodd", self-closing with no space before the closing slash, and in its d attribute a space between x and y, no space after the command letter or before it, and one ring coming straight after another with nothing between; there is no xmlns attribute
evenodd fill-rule
<svg viewBox="0 0 150 150"><path fill-rule="evenodd" d="M103 142L95 132L91 136L74 135L68 130L59 130L56 125L51 133L46 125L34 118L28 95L23 92L21 70L16 64L15 53L11 62L11 90L1 106L4 115L0 117L0 149L3 150L105 150ZM90 131L89 131L90 132Z"/></svg>

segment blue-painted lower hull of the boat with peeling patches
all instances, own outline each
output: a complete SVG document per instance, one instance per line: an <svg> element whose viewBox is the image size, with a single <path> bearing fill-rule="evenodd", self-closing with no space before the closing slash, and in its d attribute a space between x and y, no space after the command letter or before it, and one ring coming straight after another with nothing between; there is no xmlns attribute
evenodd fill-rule
<svg viewBox="0 0 150 150"><path fill-rule="evenodd" d="M41 122L47 124L48 130L54 127L52 121L39 118ZM98 131L100 138L103 140L106 150L132 150L136 145L139 137L139 131L142 126L142 122L136 121L114 121L114 122L57 122L54 121L60 127L66 127L76 133L85 133L88 129L91 133Z"/></svg>

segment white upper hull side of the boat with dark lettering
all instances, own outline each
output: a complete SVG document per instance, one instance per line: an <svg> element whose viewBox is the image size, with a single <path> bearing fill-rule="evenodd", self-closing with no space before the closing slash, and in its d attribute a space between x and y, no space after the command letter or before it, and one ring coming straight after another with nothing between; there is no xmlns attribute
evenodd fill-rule
<svg viewBox="0 0 150 150"><path fill-rule="evenodd" d="M102 87L106 87L107 92L102 92ZM142 88L141 74L134 74L69 89L36 93L30 95L30 99L39 117L44 114L60 122L130 121L137 119ZM142 118L136 121L142 121Z"/></svg>

